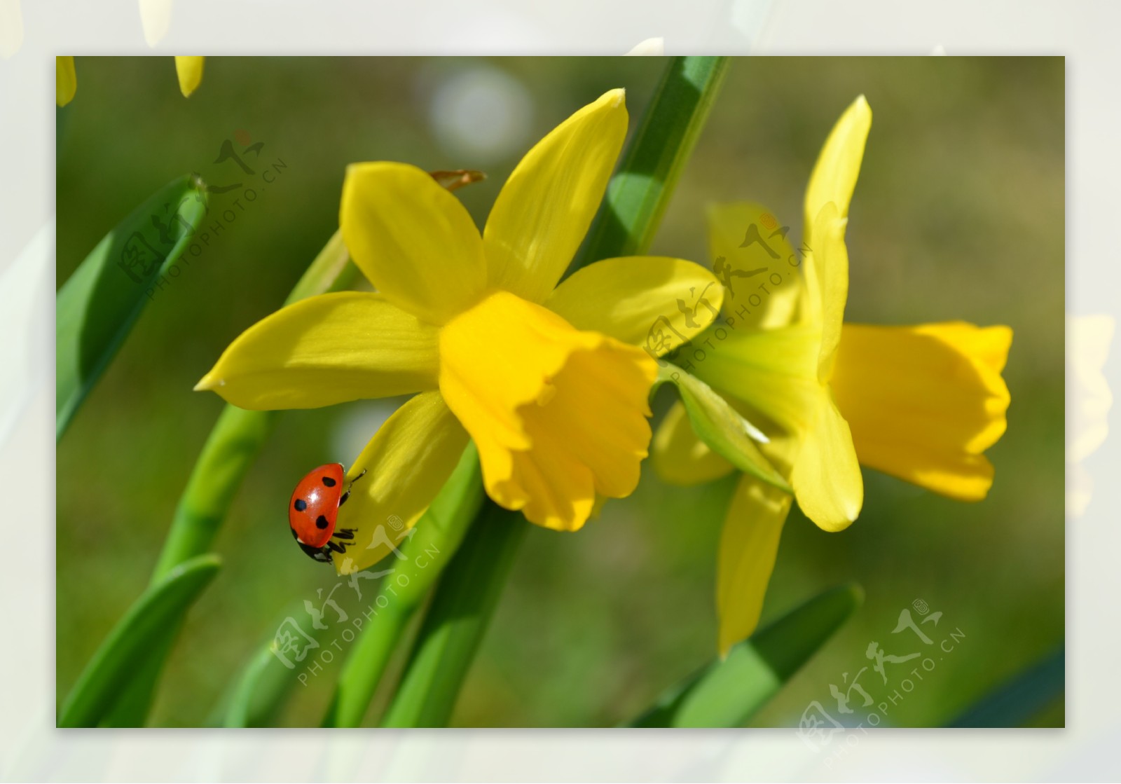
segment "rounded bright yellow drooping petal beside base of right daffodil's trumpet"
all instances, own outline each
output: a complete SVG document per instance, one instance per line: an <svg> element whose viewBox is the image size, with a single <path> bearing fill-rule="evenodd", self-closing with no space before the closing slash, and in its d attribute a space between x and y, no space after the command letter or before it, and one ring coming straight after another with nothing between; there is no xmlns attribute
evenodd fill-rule
<svg viewBox="0 0 1121 784"><path fill-rule="evenodd" d="M822 388L802 433L790 486L803 514L825 531L847 528L864 505L864 479L849 423Z"/></svg>

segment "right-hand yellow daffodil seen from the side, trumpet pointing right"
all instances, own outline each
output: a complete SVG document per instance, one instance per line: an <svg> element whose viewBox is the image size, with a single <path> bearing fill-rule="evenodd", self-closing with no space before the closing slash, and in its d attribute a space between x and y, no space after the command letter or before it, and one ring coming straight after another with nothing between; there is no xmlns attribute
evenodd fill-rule
<svg viewBox="0 0 1121 784"><path fill-rule="evenodd" d="M766 209L710 211L725 319L694 340L704 350L686 366L760 425L770 439L761 451L825 531L860 514L861 463L951 498L983 499L993 478L983 453L1003 434L1010 399L1001 377L1007 326L843 323L844 233L871 119L861 96L826 140L806 192L800 260ZM655 437L654 458L677 483L732 471L696 439L680 404ZM717 560L721 653L759 621L791 500L740 479Z"/></svg>

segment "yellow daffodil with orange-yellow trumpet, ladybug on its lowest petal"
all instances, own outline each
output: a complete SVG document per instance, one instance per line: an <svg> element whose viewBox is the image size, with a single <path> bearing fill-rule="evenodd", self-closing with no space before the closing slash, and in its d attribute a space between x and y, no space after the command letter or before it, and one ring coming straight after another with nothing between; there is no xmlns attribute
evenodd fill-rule
<svg viewBox="0 0 1121 784"><path fill-rule="evenodd" d="M341 573L389 552L388 519L404 523L393 526L401 534L415 525L469 436L490 497L538 525L576 531L597 496L633 491L657 376L638 347L675 299L715 279L680 259L627 257L557 285L626 133L622 90L577 111L521 159L481 234L421 169L350 166L342 234L377 293L326 294L274 313L198 382L253 409L419 393L350 467L351 478L368 473L340 513L339 525L356 529L335 559ZM677 313L671 325L694 336L712 319Z"/></svg>

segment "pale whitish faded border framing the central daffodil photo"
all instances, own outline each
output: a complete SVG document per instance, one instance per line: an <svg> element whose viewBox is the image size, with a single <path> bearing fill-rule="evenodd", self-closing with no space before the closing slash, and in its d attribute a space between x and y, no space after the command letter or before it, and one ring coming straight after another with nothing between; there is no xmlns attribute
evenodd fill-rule
<svg viewBox="0 0 1121 784"><path fill-rule="evenodd" d="M1117 317L1119 29L1121 4L1076 0L0 0L0 776L1117 781L1115 437L1085 462L1095 495L1068 520L1066 730L871 732L828 765L793 730L56 730L52 293L56 54L621 54L663 37L667 54L1066 55L1067 308Z"/></svg>

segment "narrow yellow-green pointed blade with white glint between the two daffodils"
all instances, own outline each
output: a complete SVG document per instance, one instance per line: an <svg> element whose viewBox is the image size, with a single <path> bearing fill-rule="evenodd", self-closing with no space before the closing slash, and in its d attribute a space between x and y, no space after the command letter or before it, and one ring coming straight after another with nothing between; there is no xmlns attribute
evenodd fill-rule
<svg viewBox="0 0 1121 784"><path fill-rule="evenodd" d="M677 387L693 432L708 449L744 473L794 495L790 485L756 445L756 441L766 441L767 436L713 391L712 387L670 363L658 368L658 379L650 394L654 395L663 384Z"/></svg>

